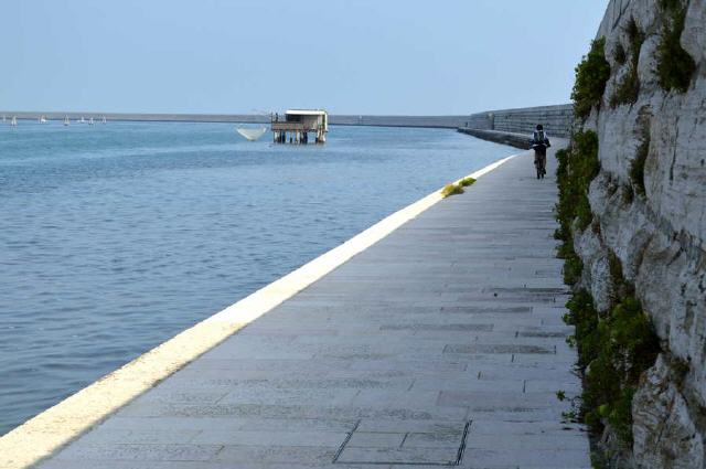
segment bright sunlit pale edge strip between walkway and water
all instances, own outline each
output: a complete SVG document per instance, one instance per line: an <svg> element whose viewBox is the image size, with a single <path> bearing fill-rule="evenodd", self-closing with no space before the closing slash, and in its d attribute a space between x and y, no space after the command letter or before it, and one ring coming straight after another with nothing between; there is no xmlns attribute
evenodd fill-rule
<svg viewBox="0 0 706 469"><path fill-rule="evenodd" d="M468 177L478 179L516 156L498 160ZM442 199L441 190L438 190L407 205L9 431L0 438L0 469L28 468L51 456L175 371Z"/></svg>

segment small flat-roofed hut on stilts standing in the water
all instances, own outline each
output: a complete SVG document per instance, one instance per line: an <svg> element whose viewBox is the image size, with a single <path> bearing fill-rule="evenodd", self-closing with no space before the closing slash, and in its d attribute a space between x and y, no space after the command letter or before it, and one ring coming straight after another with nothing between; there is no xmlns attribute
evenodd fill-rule
<svg viewBox="0 0 706 469"><path fill-rule="evenodd" d="M272 116L275 143L324 143L329 131L329 115L322 109L289 109L285 116Z"/></svg>

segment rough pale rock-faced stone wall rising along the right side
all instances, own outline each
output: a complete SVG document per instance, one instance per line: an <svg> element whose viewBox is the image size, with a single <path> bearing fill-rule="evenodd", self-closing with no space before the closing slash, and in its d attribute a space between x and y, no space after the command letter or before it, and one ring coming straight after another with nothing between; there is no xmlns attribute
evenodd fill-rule
<svg viewBox="0 0 706 469"><path fill-rule="evenodd" d="M702 468L706 438L706 0L688 4L682 47L696 62L685 93L662 89L657 47L664 22L659 0L612 0L601 23L611 66L599 108L584 125L599 136L601 171L589 192L600 230L575 238L584 260L581 284L597 307L610 295L608 256L620 259L634 283L663 353L642 377L632 403L632 451L618 467ZM638 62L640 92L632 105L610 106L630 61L627 25L644 32ZM645 194L631 193L630 167L649 135Z"/></svg>

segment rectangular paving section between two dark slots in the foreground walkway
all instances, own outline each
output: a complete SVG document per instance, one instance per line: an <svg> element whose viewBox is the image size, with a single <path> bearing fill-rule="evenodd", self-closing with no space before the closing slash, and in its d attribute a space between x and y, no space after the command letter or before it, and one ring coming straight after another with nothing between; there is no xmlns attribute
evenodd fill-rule
<svg viewBox="0 0 706 469"><path fill-rule="evenodd" d="M471 422L453 422L419 428L404 423L389 431L361 429L359 422L339 448L334 463L458 466L466 449Z"/></svg>

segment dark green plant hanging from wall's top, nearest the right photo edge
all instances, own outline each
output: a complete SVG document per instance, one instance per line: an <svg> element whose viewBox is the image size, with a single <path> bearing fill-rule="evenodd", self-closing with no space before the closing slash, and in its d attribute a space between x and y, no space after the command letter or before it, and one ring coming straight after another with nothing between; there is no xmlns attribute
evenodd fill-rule
<svg viewBox="0 0 706 469"><path fill-rule="evenodd" d="M657 79L664 90L685 93L696 71L694 58L680 42L686 19L686 4L682 0L660 0L660 8L665 20L657 46Z"/></svg>

